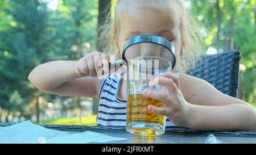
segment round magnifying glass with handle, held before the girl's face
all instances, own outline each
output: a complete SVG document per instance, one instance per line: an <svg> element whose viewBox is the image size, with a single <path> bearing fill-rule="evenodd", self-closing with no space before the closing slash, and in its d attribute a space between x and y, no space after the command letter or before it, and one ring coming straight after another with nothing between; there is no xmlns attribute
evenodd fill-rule
<svg viewBox="0 0 256 155"><path fill-rule="evenodd" d="M116 68L138 56L155 56L170 61L172 68L176 63L175 48L163 37L154 35L139 35L132 37L123 47L122 59L109 62L110 68Z"/></svg>

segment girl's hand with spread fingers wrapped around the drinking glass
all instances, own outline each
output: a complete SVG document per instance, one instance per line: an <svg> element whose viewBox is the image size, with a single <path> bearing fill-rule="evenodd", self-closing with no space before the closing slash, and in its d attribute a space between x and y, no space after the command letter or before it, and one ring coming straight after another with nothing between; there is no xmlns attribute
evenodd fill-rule
<svg viewBox="0 0 256 155"><path fill-rule="evenodd" d="M150 82L150 85L163 85L167 89L167 93L144 90L143 95L160 100L164 103L163 108L148 106L148 110L158 115L165 115L177 126L188 127L189 111L191 104L188 103L179 89L179 77L173 73L163 73L160 77Z"/></svg>

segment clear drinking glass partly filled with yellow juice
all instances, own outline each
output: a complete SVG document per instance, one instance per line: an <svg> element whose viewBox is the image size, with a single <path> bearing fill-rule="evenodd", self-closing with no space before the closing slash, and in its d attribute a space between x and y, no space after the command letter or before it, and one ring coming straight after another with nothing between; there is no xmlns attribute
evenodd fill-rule
<svg viewBox="0 0 256 155"><path fill-rule="evenodd" d="M162 135L166 126L166 116L148 111L147 106L163 107L159 100L142 95L144 89L166 93L162 85L149 85L151 79L161 73L171 72L170 61L154 56L135 57L129 60L127 72L127 112L126 131L142 136Z"/></svg>

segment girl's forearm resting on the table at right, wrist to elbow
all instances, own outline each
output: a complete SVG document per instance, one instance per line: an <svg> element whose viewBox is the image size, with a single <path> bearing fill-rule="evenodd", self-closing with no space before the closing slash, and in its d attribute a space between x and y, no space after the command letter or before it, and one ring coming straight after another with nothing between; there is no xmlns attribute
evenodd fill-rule
<svg viewBox="0 0 256 155"><path fill-rule="evenodd" d="M256 131L256 112L245 104L191 105L188 128L202 131Z"/></svg>

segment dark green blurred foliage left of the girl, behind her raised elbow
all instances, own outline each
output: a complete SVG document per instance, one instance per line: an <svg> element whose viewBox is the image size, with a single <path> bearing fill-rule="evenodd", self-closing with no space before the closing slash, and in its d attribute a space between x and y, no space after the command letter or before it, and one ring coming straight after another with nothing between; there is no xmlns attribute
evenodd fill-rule
<svg viewBox="0 0 256 155"><path fill-rule="evenodd" d="M28 74L44 62L77 60L96 49L94 1L59 1L57 10L49 9L49 3L0 1L0 107L8 114L29 119L44 112L47 102L68 100L35 89Z"/></svg>

